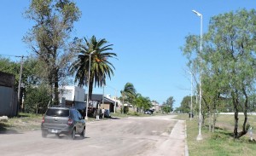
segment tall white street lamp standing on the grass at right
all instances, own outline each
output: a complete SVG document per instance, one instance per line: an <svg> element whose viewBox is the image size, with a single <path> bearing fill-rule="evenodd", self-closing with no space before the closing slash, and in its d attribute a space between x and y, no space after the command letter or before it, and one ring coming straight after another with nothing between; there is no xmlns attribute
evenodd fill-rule
<svg viewBox="0 0 256 156"><path fill-rule="evenodd" d="M201 31L200 31L200 52L202 53L202 14L198 13L194 9L192 10L197 16L201 18ZM200 57L200 64L201 64L201 57ZM200 141L202 140L201 136L201 69L200 69L200 76L199 76L199 132L198 136L196 137L196 140Z"/></svg>

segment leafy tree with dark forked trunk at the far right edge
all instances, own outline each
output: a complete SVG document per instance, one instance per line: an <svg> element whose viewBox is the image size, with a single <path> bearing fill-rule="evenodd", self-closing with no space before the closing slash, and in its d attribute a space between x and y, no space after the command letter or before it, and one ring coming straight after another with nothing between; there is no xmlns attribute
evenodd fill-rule
<svg viewBox="0 0 256 156"><path fill-rule="evenodd" d="M209 40L216 43L213 48L218 54L219 70L224 74L220 82L228 88L227 95L235 111L234 137L247 134L248 96L255 86L255 19L256 11L241 9L219 14L211 20ZM227 23L229 23L227 25ZM212 42L210 45L212 45ZM210 47L210 46L208 46ZM238 132L238 112L242 105L244 121Z"/></svg>

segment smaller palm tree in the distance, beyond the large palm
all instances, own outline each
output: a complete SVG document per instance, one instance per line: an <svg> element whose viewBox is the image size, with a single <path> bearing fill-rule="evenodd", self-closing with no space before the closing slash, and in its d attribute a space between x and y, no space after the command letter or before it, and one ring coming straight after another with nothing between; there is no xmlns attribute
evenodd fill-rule
<svg viewBox="0 0 256 156"><path fill-rule="evenodd" d="M125 103L125 101L127 101L129 103L132 103L135 99L136 90L135 90L133 84L126 83L124 90L121 90L120 92L121 92L122 99L123 99L122 113L124 113L124 103Z"/></svg>

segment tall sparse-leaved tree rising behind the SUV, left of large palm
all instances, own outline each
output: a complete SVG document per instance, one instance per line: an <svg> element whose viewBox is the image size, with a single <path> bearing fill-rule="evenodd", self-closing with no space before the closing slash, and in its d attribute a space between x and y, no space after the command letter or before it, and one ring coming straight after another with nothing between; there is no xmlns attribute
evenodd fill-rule
<svg viewBox="0 0 256 156"><path fill-rule="evenodd" d="M66 77L65 69L70 59L70 54L64 49L73 23L79 20L80 14L75 3L69 0L32 0L25 12L26 18L33 20L35 25L24 41L43 66L41 73L47 78L55 103L59 102L60 78Z"/></svg>

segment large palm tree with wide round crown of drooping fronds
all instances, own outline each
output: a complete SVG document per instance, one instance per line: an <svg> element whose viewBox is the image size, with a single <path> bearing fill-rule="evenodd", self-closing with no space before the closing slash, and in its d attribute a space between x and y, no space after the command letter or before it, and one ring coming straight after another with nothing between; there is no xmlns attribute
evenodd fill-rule
<svg viewBox="0 0 256 156"><path fill-rule="evenodd" d="M78 60L73 61L69 71L72 74L75 73L75 83L78 82L79 86L87 86L90 66L89 98L91 99L93 84L95 87L102 87L106 84L106 78L111 79L115 68L108 58L117 55L108 52L112 50L113 44L107 44L105 38L97 40L95 36L92 36L90 39L84 38L84 42L84 44L79 43L75 49L79 54Z"/></svg>

